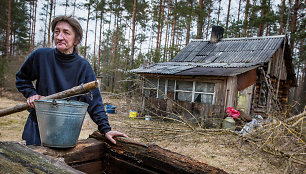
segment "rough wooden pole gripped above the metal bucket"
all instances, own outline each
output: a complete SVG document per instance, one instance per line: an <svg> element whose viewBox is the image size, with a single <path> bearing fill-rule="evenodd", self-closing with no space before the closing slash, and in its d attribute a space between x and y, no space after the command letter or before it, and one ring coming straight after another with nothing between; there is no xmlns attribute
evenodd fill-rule
<svg viewBox="0 0 306 174"><path fill-rule="evenodd" d="M66 98L66 97L71 97L74 95L79 95L79 94L84 94L92 89L95 89L98 87L98 82L97 81L92 81L92 82L88 82L70 89L67 89L65 91L62 92L58 92L49 96L46 96L42 99L44 100L49 100L49 99L61 99L61 98ZM27 103L23 103L23 104L19 104L16 105L14 107L10 107L10 108L6 108L6 109L2 109L0 110L0 117L6 116L6 115L10 115L16 112L21 112L24 111L26 109L30 109L30 106Z"/></svg>

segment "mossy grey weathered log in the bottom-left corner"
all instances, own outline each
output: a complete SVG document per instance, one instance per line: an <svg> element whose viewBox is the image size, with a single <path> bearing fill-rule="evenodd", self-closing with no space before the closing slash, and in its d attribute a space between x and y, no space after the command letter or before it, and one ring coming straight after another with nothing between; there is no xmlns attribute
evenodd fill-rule
<svg viewBox="0 0 306 174"><path fill-rule="evenodd" d="M64 161L37 153L17 142L0 142L0 173L76 173Z"/></svg>

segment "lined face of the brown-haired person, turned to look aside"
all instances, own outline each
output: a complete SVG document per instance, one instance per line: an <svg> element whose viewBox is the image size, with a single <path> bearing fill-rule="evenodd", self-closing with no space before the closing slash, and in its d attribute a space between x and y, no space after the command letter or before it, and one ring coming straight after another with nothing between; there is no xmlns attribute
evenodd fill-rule
<svg viewBox="0 0 306 174"><path fill-rule="evenodd" d="M58 22L54 28L54 42L56 48L63 54L71 54L75 43L75 32L67 22Z"/></svg>

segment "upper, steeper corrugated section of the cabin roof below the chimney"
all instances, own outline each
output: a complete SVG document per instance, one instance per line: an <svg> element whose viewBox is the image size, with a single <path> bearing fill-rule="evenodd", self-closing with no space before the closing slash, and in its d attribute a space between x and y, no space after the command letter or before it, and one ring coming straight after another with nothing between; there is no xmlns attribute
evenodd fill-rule
<svg viewBox="0 0 306 174"><path fill-rule="evenodd" d="M253 62L268 61L285 36L222 39L217 43L193 40L172 62Z"/></svg>

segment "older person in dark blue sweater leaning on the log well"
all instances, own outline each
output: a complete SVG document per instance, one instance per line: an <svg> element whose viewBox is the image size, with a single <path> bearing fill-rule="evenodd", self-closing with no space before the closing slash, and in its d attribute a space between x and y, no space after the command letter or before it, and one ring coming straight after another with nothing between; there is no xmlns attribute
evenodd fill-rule
<svg viewBox="0 0 306 174"><path fill-rule="evenodd" d="M35 100L96 80L88 61L77 53L77 45L83 36L79 22L72 17L58 16L52 21L52 32L56 48L35 50L16 74L16 87L32 108L22 134L27 145L41 144ZM35 80L34 87L32 82ZM113 143L116 143L114 136L127 137L123 133L111 131L99 90L93 90L92 95L93 99L79 99L89 104L87 111L98 125L98 130Z"/></svg>

